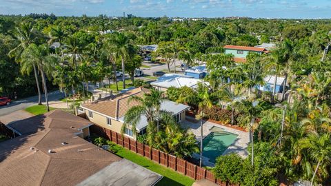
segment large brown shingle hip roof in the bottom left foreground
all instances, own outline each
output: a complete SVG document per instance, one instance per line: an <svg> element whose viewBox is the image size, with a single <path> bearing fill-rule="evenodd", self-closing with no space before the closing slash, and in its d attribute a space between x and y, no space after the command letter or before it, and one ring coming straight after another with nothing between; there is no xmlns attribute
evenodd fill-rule
<svg viewBox="0 0 331 186"><path fill-rule="evenodd" d="M23 135L0 143L1 185L77 185L120 161L74 134L88 125L61 110L11 123Z"/></svg>

